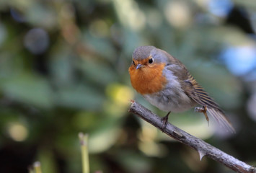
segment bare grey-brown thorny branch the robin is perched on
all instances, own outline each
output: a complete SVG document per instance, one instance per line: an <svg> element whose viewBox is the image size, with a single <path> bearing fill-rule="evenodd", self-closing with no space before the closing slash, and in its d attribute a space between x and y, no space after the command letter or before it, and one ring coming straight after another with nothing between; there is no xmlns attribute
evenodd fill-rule
<svg viewBox="0 0 256 173"><path fill-rule="evenodd" d="M151 123L151 125L154 125L156 128L162 130L161 117L133 100L131 100L131 107L129 112L138 115L138 117L141 117L143 120ZM209 158L224 164L226 167L233 169L235 172L256 173L255 167L252 167L243 161L239 161L233 156L230 156L229 154L224 153L224 151L211 146L209 143L206 143L200 138L196 138L195 136L190 135L189 133L181 130L180 128L177 128L171 123L167 123L166 128L163 129L162 132L166 133L172 138L175 138L177 141L180 141L181 143L194 148L196 151L198 151L200 159L202 159L203 156L208 156Z"/></svg>

